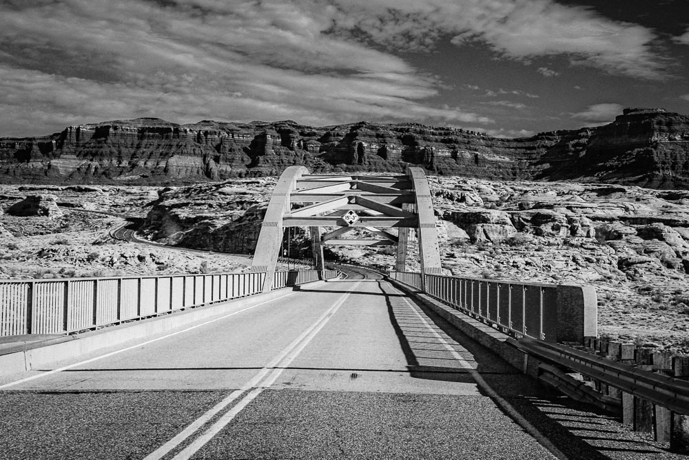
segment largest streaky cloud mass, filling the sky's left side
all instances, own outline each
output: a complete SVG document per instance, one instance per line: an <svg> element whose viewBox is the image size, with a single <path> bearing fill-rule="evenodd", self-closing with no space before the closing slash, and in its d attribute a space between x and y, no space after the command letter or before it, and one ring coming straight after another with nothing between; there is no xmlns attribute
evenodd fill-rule
<svg viewBox="0 0 689 460"><path fill-rule="evenodd" d="M0 135L162 117L494 123L433 106L435 77L323 34L311 1L64 0L0 6ZM78 32L75 32L78 31Z"/></svg>

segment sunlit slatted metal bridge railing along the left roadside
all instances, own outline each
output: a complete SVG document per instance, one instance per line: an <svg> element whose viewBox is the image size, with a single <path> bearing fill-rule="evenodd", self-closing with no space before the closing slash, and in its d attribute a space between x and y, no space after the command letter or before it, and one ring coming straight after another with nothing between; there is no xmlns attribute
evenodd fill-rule
<svg viewBox="0 0 689 460"><path fill-rule="evenodd" d="M276 272L274 288L318 280L316 270ZM337 277L327 270L325 277ZM0 336L69 334L258 294L265 273L0 280Z"/></svg>

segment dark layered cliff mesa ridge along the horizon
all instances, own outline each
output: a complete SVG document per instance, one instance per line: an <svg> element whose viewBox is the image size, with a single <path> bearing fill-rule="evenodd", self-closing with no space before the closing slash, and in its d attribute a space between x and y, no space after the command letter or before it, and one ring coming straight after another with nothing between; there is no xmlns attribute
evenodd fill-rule
<svg viewBox="0 0 689 460"><path fill-rule="evenodd" d="M577 180L689 186L689 117L626 109L598 128L498 139L418 123L314 128L294 121L179 125L134 119L0 139L2 183L181 184L311 172L401 172L492 180Z"/></svg>

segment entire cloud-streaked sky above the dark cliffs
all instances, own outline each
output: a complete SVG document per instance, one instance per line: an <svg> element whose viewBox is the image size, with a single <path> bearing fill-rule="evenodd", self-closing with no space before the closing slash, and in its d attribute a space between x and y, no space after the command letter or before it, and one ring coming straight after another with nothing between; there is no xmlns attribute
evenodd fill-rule
<svg viewBox="0 0 689 460"><path fill-rule="evenodd" d="M689 114L688 0L0 0L0 137L157 117L499 137Z"/></svg>

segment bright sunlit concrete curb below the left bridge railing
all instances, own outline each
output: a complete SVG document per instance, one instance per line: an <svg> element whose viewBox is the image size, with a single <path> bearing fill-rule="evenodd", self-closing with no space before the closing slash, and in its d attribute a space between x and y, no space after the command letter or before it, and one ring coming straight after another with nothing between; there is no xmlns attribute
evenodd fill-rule
<svg viewBox="0 0 689 460"><path fill-rule="evenodd" d="M314 283L324 283L315 281ZM308 283L313 286L313 283ZM101 348L118 345L134 339L150 337L154 334L170 332L197 321L212 319L252 304L278 299L293 292L292 288L281 288L265 294L256 294L212 305L179 310L160 317L132 321L111 328L72 334L48 341L32 343L22 350L0 355L0 376L17 374L28 370L43 368L63 359L79 357Z"/></svg>

